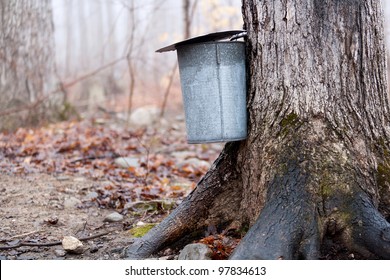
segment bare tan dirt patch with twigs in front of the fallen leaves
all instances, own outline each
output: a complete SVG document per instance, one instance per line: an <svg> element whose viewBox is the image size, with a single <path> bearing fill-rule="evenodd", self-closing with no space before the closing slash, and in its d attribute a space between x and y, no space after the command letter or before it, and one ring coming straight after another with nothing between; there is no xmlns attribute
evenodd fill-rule
<svg viewBox="0 0 390 280"><path fill-rule="evenodd" d="M133 220L125 216L120 222L104 222L112 209L80 207L83 201L90 200L88 194L101 183L81 177L55 178L45 174L0 177L0 247L20 242L35 245L1 250L0 259L121 258L122 249L131 240L124 225ZM99 234L104 235L93 238ZM65 253L61 244L36 246L60 243L66 235L92 238L83 242L82 254Z"/></svg>

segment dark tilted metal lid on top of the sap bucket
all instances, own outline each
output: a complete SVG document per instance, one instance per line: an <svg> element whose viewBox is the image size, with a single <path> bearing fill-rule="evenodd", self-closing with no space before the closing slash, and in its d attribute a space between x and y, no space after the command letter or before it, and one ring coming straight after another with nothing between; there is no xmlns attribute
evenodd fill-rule
<svg viewBox="0 0 390 280"><path fill-rule="evenodd" d="M241 35L242 36L234 36L234 35ZM156 52L168 52L168 51L174 51L176 50L176 47L183 46L183 45L190 45L190 44L196 44L196 43L205 43L210 41L219 41L227 38L240 38L245 36L246 30L228 30L228 31L220 31L220 32L214 32L209 33L202 36L193 37L184 41L177 42L175 44L166 46L164 48L158 49ZM234 37L233 37L234 36Z"/></svg>

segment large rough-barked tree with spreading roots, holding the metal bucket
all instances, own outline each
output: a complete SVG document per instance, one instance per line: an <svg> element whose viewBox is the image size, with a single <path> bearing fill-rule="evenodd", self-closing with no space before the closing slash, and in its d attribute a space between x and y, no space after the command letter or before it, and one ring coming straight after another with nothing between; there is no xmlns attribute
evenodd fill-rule
<svg viewBox="0 0 390 280"><path fill-rule="evenodd" d="M389 98L376 0L244 0L249 135L127 249L250 229L232 259L316 259L325 240L390 259ZM386 220L387 219L387 220Z"/></svg>

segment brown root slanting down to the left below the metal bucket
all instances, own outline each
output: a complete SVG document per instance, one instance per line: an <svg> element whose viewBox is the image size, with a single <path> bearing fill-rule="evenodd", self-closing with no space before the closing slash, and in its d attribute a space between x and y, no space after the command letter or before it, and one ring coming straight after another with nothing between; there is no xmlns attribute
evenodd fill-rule
<svg viewBox="0 0 390 280"><path fill-rule="evenodd" d="M236 144L226 145L195 190L169 217L126 249L127 258L146 258L164 245L194 234L207 225L233 219L234 209L240 201L240 188L235 183L238 178L234 168L236 159L227 154L234 149L237 149Z"/></svg>

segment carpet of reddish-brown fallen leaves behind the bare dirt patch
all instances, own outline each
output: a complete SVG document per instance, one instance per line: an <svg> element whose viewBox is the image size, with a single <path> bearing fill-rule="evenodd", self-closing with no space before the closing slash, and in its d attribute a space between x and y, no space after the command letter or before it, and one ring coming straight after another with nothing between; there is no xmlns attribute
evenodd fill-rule
<svg viewBox="0 0 390 280"><path fill-rule="evenodd" d="M165 130L162 134L156 127L125 129L93 119L20 128L0 134L0 172L104 180L107 184L96 190L94 202L119 210L129 202L182 199L207 167L180 165L172 153L189 150L196 160L212 162L219 150L187 145L184 135ZM116 164L118 158L132 160L124 168Z"/></svg>

